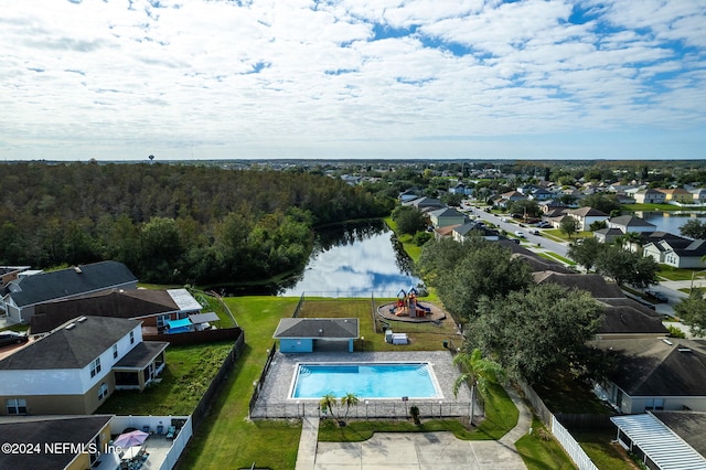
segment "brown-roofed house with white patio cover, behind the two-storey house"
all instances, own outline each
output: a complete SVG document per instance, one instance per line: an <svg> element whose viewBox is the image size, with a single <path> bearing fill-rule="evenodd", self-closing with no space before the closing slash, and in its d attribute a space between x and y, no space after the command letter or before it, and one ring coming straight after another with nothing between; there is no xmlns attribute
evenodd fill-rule
<svg viewBox="0 0 706 470"><path fill-rule="evenodd" d="M142 320L143 332L162 332L167 321L201 312L186 289L111 289L56 302L40 303L30 320L30 332L41 334L82 316Z"/></svg>

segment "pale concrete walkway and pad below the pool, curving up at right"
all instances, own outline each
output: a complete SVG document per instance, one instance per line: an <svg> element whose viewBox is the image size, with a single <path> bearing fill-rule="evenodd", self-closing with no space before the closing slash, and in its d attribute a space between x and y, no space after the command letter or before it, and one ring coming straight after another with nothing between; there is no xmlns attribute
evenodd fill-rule
<svg viewBox="0 0 706 470"><path fill-rule="evenodd" d="M319 419L302 424L297 470L399 469L479 470L525 469L514 442L528 432L532 413L514 389L517 425L500 440L460 440L451 432L376 432L364 442L317 442Z"/></svg>

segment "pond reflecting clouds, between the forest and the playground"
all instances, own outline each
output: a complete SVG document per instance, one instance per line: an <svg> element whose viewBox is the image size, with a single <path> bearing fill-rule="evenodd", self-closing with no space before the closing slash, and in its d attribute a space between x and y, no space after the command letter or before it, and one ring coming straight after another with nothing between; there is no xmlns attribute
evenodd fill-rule
<svg viewBox="0 0 706 470"><path fill-rule="evenodd" d="M411 261L383 222L346 224L320 231L302 274L278 295L299 297L395 297L420 280Z"/></svg>

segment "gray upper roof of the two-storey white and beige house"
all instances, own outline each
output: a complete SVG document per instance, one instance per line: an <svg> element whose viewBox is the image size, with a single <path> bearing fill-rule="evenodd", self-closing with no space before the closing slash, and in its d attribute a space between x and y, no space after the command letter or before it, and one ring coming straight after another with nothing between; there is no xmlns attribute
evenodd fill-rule
<svg viewBox="0 0 706 470"><path fill-rule="evenodd" d="M86 317L0 361L0 370L83 368L141 322L109 317Z"/></svg>

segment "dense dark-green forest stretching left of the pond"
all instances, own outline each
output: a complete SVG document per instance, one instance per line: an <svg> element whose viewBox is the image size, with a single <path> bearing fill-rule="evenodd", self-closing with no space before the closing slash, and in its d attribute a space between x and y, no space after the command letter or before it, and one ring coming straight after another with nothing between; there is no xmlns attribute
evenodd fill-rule
<svg viewBox="0 0 706 470"><path fill-rule="evenodd" d="M2 167L0 264L125 263L140 280L227 284L304 266L313 228L389 213L340 179L149 163Z"/></svg>

